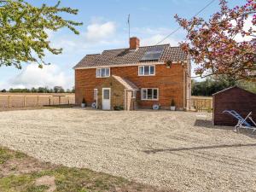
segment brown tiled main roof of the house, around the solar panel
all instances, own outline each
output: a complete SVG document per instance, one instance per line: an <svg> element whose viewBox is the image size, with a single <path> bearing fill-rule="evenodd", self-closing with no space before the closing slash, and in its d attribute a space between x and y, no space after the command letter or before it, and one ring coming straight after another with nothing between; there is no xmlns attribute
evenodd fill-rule
<svg viewBox="0 0 256 192"><path fill-rule="evenodd" d="M158 62L162 61L187 61L188 57L180 47L171 47L170 44L162 44L155 46L139 47L138 49L111 49L104 50L102 54L86 55L82 61L74 68L79 67L101 67L101 66L119 66L129 65L141 62L143 55L148 48L163 47ZM143 61L156 62L156 61Z"/></svg>

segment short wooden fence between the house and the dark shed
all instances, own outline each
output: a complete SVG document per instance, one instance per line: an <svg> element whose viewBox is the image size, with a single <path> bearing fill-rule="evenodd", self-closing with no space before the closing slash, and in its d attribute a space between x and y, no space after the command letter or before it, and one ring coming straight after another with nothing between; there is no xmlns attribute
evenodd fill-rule
<svg viewBox="0 0 256 192"><path fill-rule="evenodd" d="M189 110L200 112L212 112L212 97L207 96L191 96L188 100Z"/></svg>

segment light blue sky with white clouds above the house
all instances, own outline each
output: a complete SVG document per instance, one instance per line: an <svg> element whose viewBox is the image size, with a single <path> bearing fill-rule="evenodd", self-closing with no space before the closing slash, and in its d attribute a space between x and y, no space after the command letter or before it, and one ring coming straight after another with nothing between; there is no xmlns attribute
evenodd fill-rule
<svg viewBox="0 0 256 192"><path fill-rule="evenodd" d="M55 4L57 1L32 1ZM0 67L0 90L10 87L31 88L32 86L61 85L72 88L74 84L73 66L84 55L101 53L104 49L128 47L127 15L131 15L131 36L141 39L141 44L156 44L177 28L174 15L190 18L210 0L62 0L61 6L79 9L79 15L63 15L68 20L84 23L79 26L79 36L67 29L49 32L49 40L55 47L62 47L62 55L47 53L45 61L50 66L39 69L35 64L25 63L21 70L15 67ZM245 0L230 0L230 7L245 3ZM218 0L201 13L208 18L218 11ZM177 45L185 39L183 30L166 39L163 44Z"/></svg>

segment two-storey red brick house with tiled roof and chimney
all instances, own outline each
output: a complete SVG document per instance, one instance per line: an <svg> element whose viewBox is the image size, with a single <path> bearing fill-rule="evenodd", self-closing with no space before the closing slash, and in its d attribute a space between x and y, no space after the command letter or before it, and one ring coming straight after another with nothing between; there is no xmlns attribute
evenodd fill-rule
<svg viewBox="0 0 256 192"><path fill-rule="evenodd" d="M139 46L130 38L130 48L104 50L86 55L75 70L76 103L111 110L170 108L172 99L177 110L187 108L190 98L190 60L180 47L170 44Z"/></svg>

